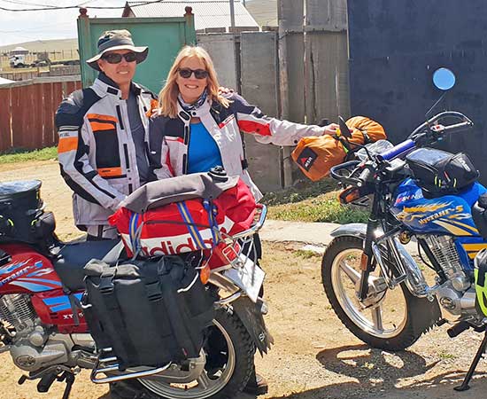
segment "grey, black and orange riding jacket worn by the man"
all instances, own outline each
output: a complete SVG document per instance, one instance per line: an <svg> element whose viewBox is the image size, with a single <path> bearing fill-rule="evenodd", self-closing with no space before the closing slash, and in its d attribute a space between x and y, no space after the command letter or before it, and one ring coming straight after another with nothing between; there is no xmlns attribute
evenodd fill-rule
<svg viewBox="0 0 487 399"><path fill-rule="evenodd" d="M151 91L132 83L149 140L149 115L157 106ZM120 201L140 186L126 101L101 73L88 89L65 98L56 113L61 175L73 190L77 226L108 224Z"/></svg>

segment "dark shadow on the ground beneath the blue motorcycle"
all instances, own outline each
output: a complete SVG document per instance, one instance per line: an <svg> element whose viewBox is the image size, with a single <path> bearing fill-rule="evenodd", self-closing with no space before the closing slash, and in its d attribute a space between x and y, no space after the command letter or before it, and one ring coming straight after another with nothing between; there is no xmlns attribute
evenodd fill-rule
<svg viewBox="0 0 487 399"><path fill-rule="evenodd" d="M349 345L321 351L317 360L330 371L356 381L324 385L282 397L290 399L473 399L484 397L487 390L487 373L477 372L467 392L456 392L453 387L461 384L466 370L449 371L425 378L426 373L439 361L427 364L412 351L387 353L367 345ZM326 384L326 381L323 381ZM399 385L400 384L400 385ZM274 397L277 399L277 397Z"/></svg>

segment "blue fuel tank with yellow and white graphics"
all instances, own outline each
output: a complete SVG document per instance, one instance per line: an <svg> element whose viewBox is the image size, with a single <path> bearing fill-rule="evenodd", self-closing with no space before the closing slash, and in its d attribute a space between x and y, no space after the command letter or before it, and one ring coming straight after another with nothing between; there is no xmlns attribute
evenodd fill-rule
<svg viewBox="0 0 487 399"><path fill-rule="evenodd" d="M406 179L394 193L390 212L417 234L479 236L471 207L484 192L485 187L475 183L456 194L426 199L414 180Z"/></svg>

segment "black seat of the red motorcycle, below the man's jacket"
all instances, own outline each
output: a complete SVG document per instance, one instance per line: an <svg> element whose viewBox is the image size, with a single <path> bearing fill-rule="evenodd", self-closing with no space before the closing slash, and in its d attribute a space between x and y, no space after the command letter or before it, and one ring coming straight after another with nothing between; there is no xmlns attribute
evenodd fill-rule
<svg viewBox="0 0 487 399"><path fill-rule="evenodd" d="M92 259L103 259L104 255L119 242L120 239L107 239L66 244L59 249L58 259L53 262L54 270L68 289L83 290L85 288L83 268L86 263Z"/></svg>

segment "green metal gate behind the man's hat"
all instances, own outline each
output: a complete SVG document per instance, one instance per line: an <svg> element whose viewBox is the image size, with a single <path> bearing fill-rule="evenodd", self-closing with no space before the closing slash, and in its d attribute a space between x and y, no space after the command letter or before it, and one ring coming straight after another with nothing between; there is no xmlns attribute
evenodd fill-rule
<svg viewBox="0 0 487 399"><path fill-rule="evenodd" d="M97 78L97 71L86 60L97 54L97 41L104 31L113 29L128 29L136 46L149 46L149 55L137 66L134 80L154 93L162 88L182 47L197 43L193 14L181 18L89 18L80 15L78 43L83 87L90 86Z"/></svg>

